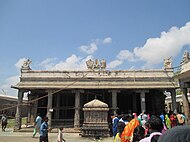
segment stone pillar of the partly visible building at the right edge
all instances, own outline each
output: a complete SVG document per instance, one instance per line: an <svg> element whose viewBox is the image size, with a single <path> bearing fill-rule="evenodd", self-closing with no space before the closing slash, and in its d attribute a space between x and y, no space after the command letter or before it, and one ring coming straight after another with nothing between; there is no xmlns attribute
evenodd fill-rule
<svg viewBox="0 0 190 142"><path fill-rule="evenodd" d="M190 119L190 113L189 113L190 109L189 109L189 100L188 100L188 96L187 96L187 88L186 87L187 86L184 85L184 86L182 86L181 89L183 91L183 93L182 93L182 99L183 99L184 114L185 114L185 116L187 116L188 121L189 121L189 119Z"/></svg>

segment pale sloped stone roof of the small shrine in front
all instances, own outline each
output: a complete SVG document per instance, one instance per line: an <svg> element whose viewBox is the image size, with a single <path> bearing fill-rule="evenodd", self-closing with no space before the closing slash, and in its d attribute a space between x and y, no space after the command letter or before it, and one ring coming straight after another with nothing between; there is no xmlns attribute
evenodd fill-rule
<svg viewBox="0 0 190 142"><path fill-rule="evenodd" d="M98 99L94 99L84 104L84 108L108 108L108 105Z"/></svg>

